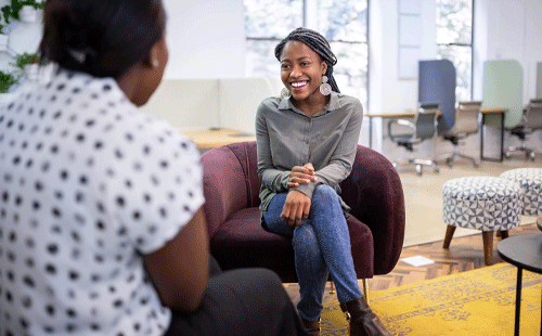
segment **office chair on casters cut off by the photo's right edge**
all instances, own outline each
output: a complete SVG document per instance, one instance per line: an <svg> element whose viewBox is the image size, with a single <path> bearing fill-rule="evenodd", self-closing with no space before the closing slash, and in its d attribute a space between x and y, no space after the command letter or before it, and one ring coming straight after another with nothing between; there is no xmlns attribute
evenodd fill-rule
<svg viewBox="0 0 542 336"><path fill-rule="evenodd" d="M525 111L519 125L508 130L512 135L519 138L521 145L509 146L508 151L504 155L508 158L512 152L521 151L525 153L525 158L534 160L535 153L541 152L526 147L525 142L527 140L527 135L539 129L542 129L542 99L531 100L529 105L527 105L527 109Z"/></svg>

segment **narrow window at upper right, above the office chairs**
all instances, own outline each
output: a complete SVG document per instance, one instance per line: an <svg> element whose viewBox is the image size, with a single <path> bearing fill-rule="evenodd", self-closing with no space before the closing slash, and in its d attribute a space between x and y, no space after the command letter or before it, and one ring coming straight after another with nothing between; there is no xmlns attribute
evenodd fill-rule
<svg viewBox="0 0 542 336"><path fill-rule="evenodd" d="M437 0L437 55L455 66L456 102L472 100L473 1Z"/></svg>

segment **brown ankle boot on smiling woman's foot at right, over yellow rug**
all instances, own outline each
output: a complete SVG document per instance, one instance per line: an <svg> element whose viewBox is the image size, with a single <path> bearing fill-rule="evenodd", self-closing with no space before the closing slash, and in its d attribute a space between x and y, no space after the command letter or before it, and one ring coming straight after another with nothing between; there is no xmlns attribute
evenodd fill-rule
<svg viewBox="0 0 542 336"><path fill-rule="evenodd" d="M365 297L361 296L353 301L340 303L340 309L350 321L351 336L392 336L369 308Z"/></svg>

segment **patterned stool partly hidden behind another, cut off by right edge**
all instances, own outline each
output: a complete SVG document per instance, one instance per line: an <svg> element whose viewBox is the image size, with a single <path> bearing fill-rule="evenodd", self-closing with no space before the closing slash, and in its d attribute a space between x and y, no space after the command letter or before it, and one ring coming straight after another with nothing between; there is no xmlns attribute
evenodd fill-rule
<svg viewBox="0 0 542 336"><path fill-rule="evenodd" d="M542 215L542 168L518 168L501 173L501 178L518 182L524 189L522 215Z"/></svg>

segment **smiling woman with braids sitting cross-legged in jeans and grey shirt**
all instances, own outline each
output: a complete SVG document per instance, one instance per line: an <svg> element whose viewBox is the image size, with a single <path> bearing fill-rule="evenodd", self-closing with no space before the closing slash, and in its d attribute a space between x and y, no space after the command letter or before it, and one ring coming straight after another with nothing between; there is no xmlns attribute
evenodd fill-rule
<svg viewBox="0 0 542 336"><path fill-rule="evenodd" d="M358 286L339 182L351 169L362 121L358 99L340 94L337 60L319 33L292 31L275 48L282 96L261 102L256 116L262 227L292 236L299 280L299 315L320 334L325 283L350 314L351 335L390 335Z"/></svg>

